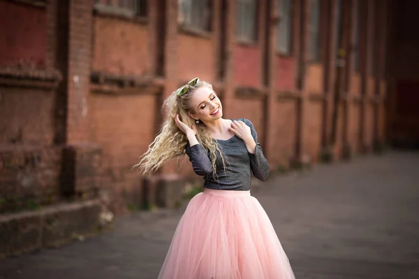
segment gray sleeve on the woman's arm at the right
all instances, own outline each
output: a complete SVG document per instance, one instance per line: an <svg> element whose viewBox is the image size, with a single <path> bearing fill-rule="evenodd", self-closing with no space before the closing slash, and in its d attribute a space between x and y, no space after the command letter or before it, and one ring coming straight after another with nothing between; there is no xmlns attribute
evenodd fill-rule
<svg viewBox="0 0 419 279"><path fill-rule="evenodd" d="M254 154L249 153L250 157L250 165L251 165L251 171L253 172L253 175L260 179L261 181L265 181L267 179L267 176L269 176L270 173L270 167L269 163L267 162L267 159L263 155L262 148L260 147L260 144L258 142L258 134L256 133L255 128L253 127L253 123L251 121L247 120L244 121L249 127L251 131L251 135L253 137L253 140L256 142L256 151Z"/></svg>

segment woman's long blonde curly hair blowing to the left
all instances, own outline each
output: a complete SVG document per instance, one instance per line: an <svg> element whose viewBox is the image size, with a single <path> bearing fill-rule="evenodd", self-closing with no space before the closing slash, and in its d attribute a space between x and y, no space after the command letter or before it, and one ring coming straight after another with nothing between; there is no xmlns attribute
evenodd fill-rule
<svg viewBox="0 0 419 279"><path fill-rule="evenodd" d="M218 144L212 140L205 124L202 122L195 123L195 119L189 116L190 113L193 113L193 110L189 105L189 100L193 96L193 91L200 87L207 87L213 90L212 85L200 81L195 85L186 86L189 88L188 93L178 96L176 90L164 101L163 110L168 109L166 121L162 124L159 134L152 144L149 145L147 152L142 155L140 163L133 166L133 168L138 167L141 174L156 172L156 170L166 163L166 161L184 155L185 146L188 140L186 135L179 130L175 124L175 117L177 114L179 114L179 119L187 126L196 126L196 139L207 152L210 152L213 176L215 177L216 175L216 153L219 153L223 167L224 169L226 168L221 150L219 149Z"/></svg>

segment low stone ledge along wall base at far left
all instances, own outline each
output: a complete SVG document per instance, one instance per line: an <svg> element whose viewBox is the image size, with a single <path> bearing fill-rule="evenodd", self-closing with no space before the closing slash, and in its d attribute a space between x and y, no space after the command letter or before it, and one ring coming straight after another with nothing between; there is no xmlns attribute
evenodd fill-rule
<svg viewBox="0 0 419 279"><path fill-rule="evenodd" d="M3 214L0 216L0 258L82 239L108 227L112 219L112 213L102 210L99 199Z"/></svg>

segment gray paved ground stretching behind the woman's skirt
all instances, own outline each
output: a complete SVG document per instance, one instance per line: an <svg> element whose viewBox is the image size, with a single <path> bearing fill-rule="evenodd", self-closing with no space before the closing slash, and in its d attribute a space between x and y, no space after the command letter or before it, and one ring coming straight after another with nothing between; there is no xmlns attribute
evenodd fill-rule
<svg viewBox="0 0 419 279"><path fill-rule="evenodd" d="M419 153L388 153L277 177L254 195L297 279L419 278L418 181ZM95 239L0 260L0 279L156 278L181 214L136 213Z"/></svg>

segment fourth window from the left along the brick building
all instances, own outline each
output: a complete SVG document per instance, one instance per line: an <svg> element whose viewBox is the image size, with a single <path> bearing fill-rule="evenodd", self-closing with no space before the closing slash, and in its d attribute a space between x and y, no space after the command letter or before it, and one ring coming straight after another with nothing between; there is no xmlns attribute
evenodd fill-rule
<svg viewBox="0 0 419 279"><path fill-rule="evenodd" d="M293 1L279 0L279 27L277 31L278 51L283 54L291 54L291 40L293 38Z"/></svg>

